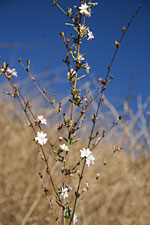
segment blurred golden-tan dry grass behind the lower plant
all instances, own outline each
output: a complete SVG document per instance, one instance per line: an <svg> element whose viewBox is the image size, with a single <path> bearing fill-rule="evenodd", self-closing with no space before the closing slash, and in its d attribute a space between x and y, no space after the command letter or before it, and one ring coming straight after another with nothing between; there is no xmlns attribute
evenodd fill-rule
<svg viewBox="0 0 150 225"><path fill-rule="evenodd" d="M32 143L32 131L16 112L14 104L0 102L0 128L0 225L53 225L38 176L38 172L44 173L44 163ZM52 128L49 134L54 140ZM120 143L126 141L126 136L126 133L114 134ZM108 138L94 155L97 160L88 170L87 178L90 188L78 202L78 224L149 225L149 156L137 158L123 151L114 154ZM76 157L78 150L74 150ZM54 161L50 163L53 163L52 174L57 179L57 166ZM98 172L100 178L96 181Z"/></svg>

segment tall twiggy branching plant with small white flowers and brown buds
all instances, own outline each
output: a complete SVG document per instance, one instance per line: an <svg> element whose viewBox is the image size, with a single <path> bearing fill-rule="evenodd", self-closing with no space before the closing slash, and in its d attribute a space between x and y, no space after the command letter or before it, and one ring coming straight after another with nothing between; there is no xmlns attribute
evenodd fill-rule
<svg viewBox="0 0 150 225"><path fill-rule="evenodd" d="M108 64L107 73L103 78L99 77L97 80L98 87L95 90L88 92L87 95L83 95L83 91L78 89L78 83L80 83L81 79L86 79L90 66L87 59L85 59L86 53L82 52L81 45L83 41L90 41L94 39L91 28L89 28L86 24L86 19L87 17L91 17L92 8L97 7L98 3L93 2L92 0L79 0L77 2L78 5L74 6L74 9L68 8L67 11L65 11L59 5L57 0L52 1L52 6L58 7L60 11L70 19L70 23L66 23L66 25L73 30L70 37L66 37L64 32L60 32L66 49L66 56L63 61L68 69L66 79L69 82L71 94L71 98L66 99L66 101L70 103L70 109L68 109L70 110L69 117L66 113L62 112L63 105L61 102L58 103L57 107L55 102L55 94L52 95L52 98L49 98L46 90L42 89L38 85L36 78L33 77L30 72L30 60L27 60L27 65L24 65L21 58L18 59L18 62L26 70L35 87L60 117L61 123L58 127L58 132L61 129L65 129L65 135L59 136L57 144L53 143L44 131L44 126L47 124L47 120L43 117L43 115L38 116L33 112L30 101L25 99L19 87L15 84L13 77L17 77L16 69L11 69L5 62L1 62L0 68L0 75L5 76L6 80L13 89L13 93L7 91L5 94L12 96L20 104L27 117L27 124L33 130L34 142L39 146L40 157L45 162L47 179L50 181L53 188L53 197L49 195L49 190L44 184L42 173L39 173L39 177L42 181L43 190L49 202L54 224L57 225L71 225L80 223L78 217L80 214L80 206L77 205L77 202L85 191L89 191L88 181L86 181L85 188L81 190L83 177L86 178L86 174L84 173L85 167L87 167L88 170L92 169L92 165L95 160L98 160L94 157L95 147L100 144L102 139L105 138L111 129L121 121L121 116L119 116L118 120L114 121L108 130L100 131L96 128L96 124L100 118L100 108L104 101L104 92L106 91L107 84L114 78L110 74L110 71L116 54L128 28L141 8L141 6L138 6L138 9L132 15L127 26L122 27L121 38L114 43L115 52L110 63ZM94 100L97 100L98 104L95 112L91 115L92 125L89 130L87 144L81 149L78 149L77 142L80 141L78 138L78 133L86 124L87 110ZM69 156L74 154L72 150L73 146L74 149L77 148L76 151L78 151L78 160L70 163ZM115 150L116 149L117 148L115 148ZM61 165L60 168L62 177L59 186L56 186L55 184L55 179L57 179L57 177L53 177L51 174L51 165L49 163L49 159L51 157L55 159L56 163ZM76 179L76 186L71 185L69 182L70 178ZM96 174L95 179L97 180L98 178L99 174ZM54 210L52 198L55 199L55 203L59 207L59 210L57 211Z"/></svg>

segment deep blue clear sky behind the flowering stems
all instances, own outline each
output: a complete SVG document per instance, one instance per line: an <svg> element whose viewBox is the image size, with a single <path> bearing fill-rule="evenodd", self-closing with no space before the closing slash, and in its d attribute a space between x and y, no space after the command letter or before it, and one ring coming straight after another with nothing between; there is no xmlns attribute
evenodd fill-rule
<svg viewBox="0 0 150 225"><path fill-rule="evenodd" d="M78 0L58 0L66 9L78 4ZM92 10L87 25L95 39L87 41L86 60L95 77L104 76L107 65L115 50L114 41L121 36L121 27L126 25L139 4L142 9L135 18L122 43L112 68L115 79L110 85L108 96L121 101L128 90L131 74L134 75L132 94L142 94L143 99L150 95L150 1L149 0L103 0ZM57 7L51 7L50 0L1 0L0 1L0 56L25 76L16 59L28 58L32 62L32 71L39 78L48 70L49 81L59 73L65 76L64 46L59 35L65 31L69 35L71 28L65 26L68 18ZM40 80L42 77L40 77ZM52 87L51 87L52 88ZM66 92L65 86L53 87L56 91ZM60 89L61 88L61 89Z"/></svg>

